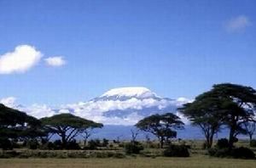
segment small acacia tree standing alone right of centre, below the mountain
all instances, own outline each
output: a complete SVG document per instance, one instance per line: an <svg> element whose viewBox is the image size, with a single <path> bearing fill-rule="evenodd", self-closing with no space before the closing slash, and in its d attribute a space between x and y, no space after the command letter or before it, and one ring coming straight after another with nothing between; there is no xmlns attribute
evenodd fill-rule
<svg viewBox="0 0 256 168"><path fill-rule="evenodd" d="M177 115L166 113L164 115L150 115L136 124L137 128L154 134L160 141L160 148L170 138L177 137L175 129L183 129L183 121Z"/></svg>

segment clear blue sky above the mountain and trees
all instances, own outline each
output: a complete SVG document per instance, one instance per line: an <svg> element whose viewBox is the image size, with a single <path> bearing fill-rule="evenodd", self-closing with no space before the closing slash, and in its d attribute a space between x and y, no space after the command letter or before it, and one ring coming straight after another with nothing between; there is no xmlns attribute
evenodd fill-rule
<svg viewBox="0 0 256 168"><path fill-rule="evenodd" d="M168 98L194 98L220 82L256 88L255 7L253 0L0 0L0 56L25 44L42 54L26 71L0 74L0 98L55 105L114 87ZM66 64L47 64L55 56Z"/></svg>

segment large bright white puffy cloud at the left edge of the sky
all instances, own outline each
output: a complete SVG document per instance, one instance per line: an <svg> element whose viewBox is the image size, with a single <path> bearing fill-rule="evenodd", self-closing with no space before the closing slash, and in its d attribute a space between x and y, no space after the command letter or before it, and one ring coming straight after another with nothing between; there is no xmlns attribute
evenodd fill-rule
<svg viewBox="0 0 256 168"><path fill-rule="evenodd" d="M15 51L0 55L0 74L22 73L30 70L43 56L29 45L20 45Z"/></svg>

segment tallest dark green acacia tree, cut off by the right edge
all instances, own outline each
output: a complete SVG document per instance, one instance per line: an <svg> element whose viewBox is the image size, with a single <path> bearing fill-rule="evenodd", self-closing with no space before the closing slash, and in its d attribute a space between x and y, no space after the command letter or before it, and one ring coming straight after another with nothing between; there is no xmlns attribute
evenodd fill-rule
<svg viewBox="0 0 256 168"><path fill-rule="evenodd" d="M222 114L224 123L230 128L229 144L232 148L238 134L247 134L243 127L249 121L255 122L256 91L253 87L246 87L231 83L213 85L212 91L220 99L225 99L226 110Z"/></svg>

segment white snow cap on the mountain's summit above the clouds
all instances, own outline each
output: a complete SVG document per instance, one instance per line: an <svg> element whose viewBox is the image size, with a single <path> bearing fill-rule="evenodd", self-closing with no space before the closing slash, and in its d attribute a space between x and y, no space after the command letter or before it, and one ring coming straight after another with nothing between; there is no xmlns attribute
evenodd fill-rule
<svg viewBox="0 0 256 168"><path fill-rule="evenodd" d="M102 97L136 97L136 98L151 98L157 97L156 94L146 87L118 87L109 90L102 94Z"/></svg>

